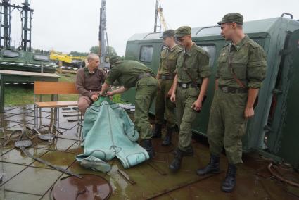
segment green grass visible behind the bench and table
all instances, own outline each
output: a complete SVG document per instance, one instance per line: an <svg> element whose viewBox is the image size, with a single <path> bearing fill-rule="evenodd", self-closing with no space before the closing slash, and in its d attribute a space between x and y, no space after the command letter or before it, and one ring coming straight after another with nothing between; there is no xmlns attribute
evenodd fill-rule
<svg viewBox="0 0 299 200"><path fill-rule="evenodd" d="M61 74L59 82L75 82L75 74ZM24 106L34 103L33 85L6 85L4 91L4 101L6 106ZM77 101L78 94L61 94L58 95L59 101ZM37 100L39 95L37 95ZM42 95L41 101L51 101L51 95ZM115 103L122 103L120 94L113 96Z"/></svg>

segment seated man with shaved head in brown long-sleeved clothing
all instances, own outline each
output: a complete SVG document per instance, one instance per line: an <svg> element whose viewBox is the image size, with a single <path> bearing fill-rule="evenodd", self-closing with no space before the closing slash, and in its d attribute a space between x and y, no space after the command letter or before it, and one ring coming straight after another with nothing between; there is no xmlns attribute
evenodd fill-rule
<svg viewBox="0 0 299 200"><path fill-rule="evenodd" d="M79 111L84 115L86 109L96 100L106 79L106 72L98 68L100 58L96 54L87 56L88 65L77 71L76 88L80 94Z"/></svg>

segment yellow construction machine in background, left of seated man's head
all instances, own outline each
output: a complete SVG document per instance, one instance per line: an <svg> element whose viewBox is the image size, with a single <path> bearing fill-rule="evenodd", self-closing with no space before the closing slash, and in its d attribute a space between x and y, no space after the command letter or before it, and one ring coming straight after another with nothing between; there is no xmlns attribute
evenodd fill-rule
<svg viewBox="0 0 299 200"><path fill-rule="evenodd" d="M85 65L86 56L71 56L52 50L50 53L50 60L57 65L63 65L68 69L82 68ZM61 62L61 64L59 63Z"/></svg>

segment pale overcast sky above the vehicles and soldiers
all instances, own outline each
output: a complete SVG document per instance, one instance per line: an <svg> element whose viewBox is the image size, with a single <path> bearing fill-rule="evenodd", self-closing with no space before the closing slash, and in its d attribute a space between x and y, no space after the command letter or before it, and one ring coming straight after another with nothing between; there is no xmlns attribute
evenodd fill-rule
<svg viewBox="0 0 299 200"><path fill-rule="evenodd" d="M20 4L22 0L11 0ZM88 52L98 45L101 0L31 0L32 47L63 51ZM167 24L202 27L215 25L225 13L238 12L244 20L275 18L292 13L299 19L299 0L160 0ZM110 46L125 54L127 39L139 32L153 32L155 0L106 0L107 30ZM20 39L20 15L12 19L13 43Z"/></svg>

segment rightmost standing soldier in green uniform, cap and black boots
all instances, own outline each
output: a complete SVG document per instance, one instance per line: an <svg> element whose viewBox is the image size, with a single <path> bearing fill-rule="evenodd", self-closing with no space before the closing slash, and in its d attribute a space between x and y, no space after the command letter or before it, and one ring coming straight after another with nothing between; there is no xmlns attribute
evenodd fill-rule
<svg viewBox="0 0 299 200"><path fill-rule="evenodd" d="M223 47L217 61L215 96L208 125L210 163L196 173L219 173L224 146L229 166L222 190L231 192L236 185L236 165L242 163L241 137L246 133L248 118L254 115L253 106L265 79L267 62L262 47L244 35L241 14L224 15L218 24L221 34L231 44Z"/></svg>

